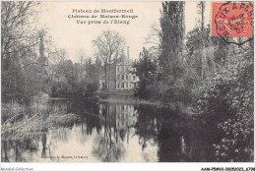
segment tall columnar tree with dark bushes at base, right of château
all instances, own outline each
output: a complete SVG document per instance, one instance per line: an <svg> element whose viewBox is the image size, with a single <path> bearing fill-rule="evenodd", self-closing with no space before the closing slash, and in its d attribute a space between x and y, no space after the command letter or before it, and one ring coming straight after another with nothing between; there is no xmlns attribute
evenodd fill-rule
<svg viewBox="0 0 256 172"><path fill-rule="evenodd" d="M146 53L145 49L143 50L144 56L141 57L140 63L136 66L140 82L135 89L135 95L145 99L156 100L158 98L166 104L188 103L191 101L191 84L193 81L190 75L191 71L187 69L183 57L184 3L164 2L162 8L161 29L155 29L154 34L160 36L158 48L160 53L155 53L159 55L159 58L153 58L152 55L152 59L155 59L152 65L154 67L152 67L148 62L149 53ZM158 40L156 37L152 39Z"/></svg>

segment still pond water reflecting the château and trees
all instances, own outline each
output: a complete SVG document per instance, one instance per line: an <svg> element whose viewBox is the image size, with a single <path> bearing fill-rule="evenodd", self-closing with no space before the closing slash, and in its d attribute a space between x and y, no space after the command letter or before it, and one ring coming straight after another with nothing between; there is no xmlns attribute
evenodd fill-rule
<svg viewBox="0 0 256 172"><path fill-rule="evenodd" d="M213 143L222 139L209 123L155 105L51 100L47 109L78 118L26 141L2 142L2 161L212 162Z"/></svg>

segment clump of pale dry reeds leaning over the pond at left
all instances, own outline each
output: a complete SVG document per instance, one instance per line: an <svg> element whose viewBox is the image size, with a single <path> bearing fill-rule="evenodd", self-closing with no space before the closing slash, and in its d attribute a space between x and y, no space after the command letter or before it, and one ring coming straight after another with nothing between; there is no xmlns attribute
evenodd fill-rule
<svg viewBox="0 0 256 172"><path fill-rule="evenodd" d="M73 113L49 113L34 111L32 115L16 113L1 125L2 141L21 141L47 134L48 130L66 127L78 120Z"/></svg>

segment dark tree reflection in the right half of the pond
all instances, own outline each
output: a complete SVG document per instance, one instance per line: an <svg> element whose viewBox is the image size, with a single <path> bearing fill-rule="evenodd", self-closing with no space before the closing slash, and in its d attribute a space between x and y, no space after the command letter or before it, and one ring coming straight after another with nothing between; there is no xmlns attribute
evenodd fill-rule
<svg viewBox="0 0 256 172"><path fill-rule="evenodd" d="M139 143L142 149L149 143L157 144L160 162L215 161L212 144L217 139L211 136L211 133L216 134L211 131L212 124L203 124L178 116L169 109L149 105L137 105L136 110Z"/></svg>

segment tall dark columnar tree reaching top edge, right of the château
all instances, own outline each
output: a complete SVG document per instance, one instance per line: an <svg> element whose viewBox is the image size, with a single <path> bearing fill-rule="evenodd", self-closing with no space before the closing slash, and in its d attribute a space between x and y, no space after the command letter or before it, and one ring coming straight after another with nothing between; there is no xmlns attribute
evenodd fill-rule
<svg viewBox="0 0 256 172"><path fill-rule="evenodd" d="M162 2L160 66L163 72L177 78L182 62L184 39L184 2Z"/></svg>

